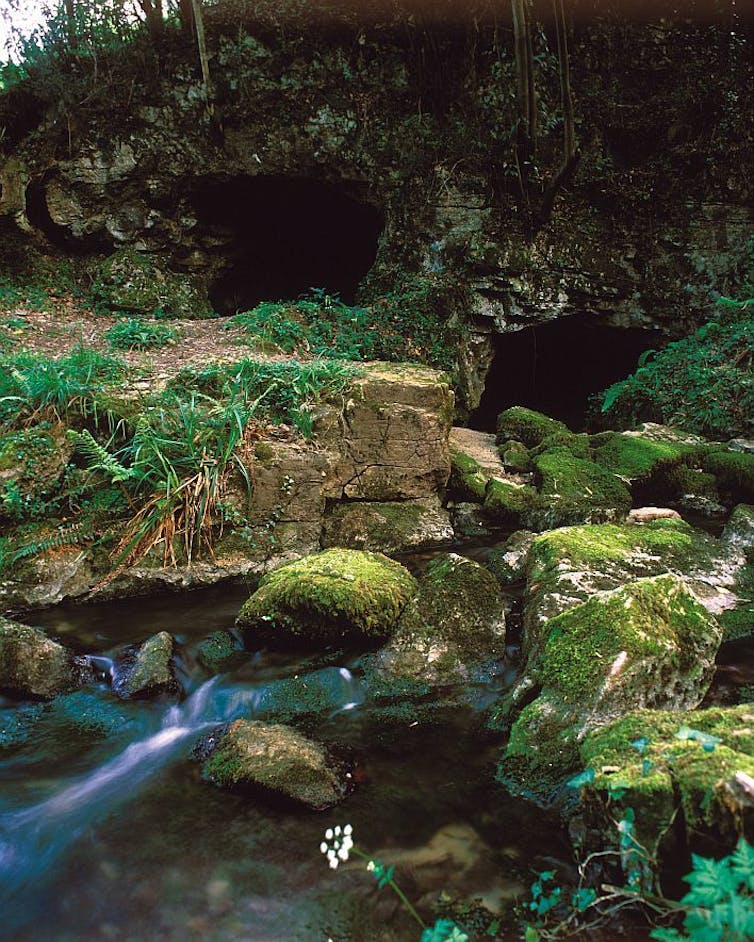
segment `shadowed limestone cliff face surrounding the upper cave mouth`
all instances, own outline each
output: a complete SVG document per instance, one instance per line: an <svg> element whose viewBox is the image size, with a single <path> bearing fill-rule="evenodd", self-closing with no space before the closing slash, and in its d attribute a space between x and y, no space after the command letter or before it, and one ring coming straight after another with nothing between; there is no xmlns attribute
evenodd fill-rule
<svg viewBox="0 0 754 942"><path fill-rule="evenodd" d="M606 13L576 23L581 160L533 232L513 147L509 24L351 16L314 28L239 21L224 7L208 16L214 124L193 47L178 37L140 46L130 64L120 53L109 63L117 81L100 76L83 105L37 86L0 101L7 238L157 253L233 309L244 301L234 279L271 225L270 188L296 181L300 214L289 208L287 226L311 231L304 254L317 248L311 217L342 211L342 238L328 237L353 264L347 294L370 268L388 287L398 270L460 275L470 292L459 313L481 333L579 313L679 335L710 288L725 290L754 227L749 25ZM562 150L557 65L542 37L534 191ZM19 104L24 94L33 107ZM19 108L33 115L21 121Z"/></svg>

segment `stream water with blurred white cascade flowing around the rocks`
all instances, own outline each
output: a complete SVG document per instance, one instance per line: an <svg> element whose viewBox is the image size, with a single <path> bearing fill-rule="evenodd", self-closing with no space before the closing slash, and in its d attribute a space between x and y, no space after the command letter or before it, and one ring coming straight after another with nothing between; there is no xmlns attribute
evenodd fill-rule
<svg viewBox="0 0 754 942"><path fill-rule="evenodd" d="M418 937L363 863L333 872L328 826L399 873L412 899L446 889L501 906L532 870L568 854L557 826L493 779L498 743L484 708L503 667L453 704L380 704L359 652L258 652L208 677L198 641L230 628L243 588L34 618L103 675L124 644L170 631L179 704L118 701L104 679L52 704L0 701L0 936L41 940L359 942ZM353 793L313 814L201 779L200 737L239 717L291 720L355 762Z"/></svg>

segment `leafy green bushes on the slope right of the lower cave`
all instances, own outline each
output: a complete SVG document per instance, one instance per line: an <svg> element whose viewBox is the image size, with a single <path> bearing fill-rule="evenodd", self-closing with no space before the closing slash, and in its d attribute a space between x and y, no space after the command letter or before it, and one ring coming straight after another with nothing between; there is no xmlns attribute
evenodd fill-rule
<svg viewBox="0 0 754 942"><path fill-rule="evenodd" d="M635 373L602 394L605 418L621 428L651 421L713 438L751 437L753 308L754 299L724 300L690 337L644 354Z"/></svg>

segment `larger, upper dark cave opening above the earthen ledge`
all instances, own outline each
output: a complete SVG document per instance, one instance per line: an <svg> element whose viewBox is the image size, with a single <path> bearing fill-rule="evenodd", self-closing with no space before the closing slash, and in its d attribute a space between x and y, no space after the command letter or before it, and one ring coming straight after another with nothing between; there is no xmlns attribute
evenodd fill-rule
<svg viewBox="0 0 754 942"><path fill-rule="evenodd" d="M225 264L210 287L220 314L310 288L353 304L384 220L342 185L282 176L211 181L194 193L199 226Z"/></svg>

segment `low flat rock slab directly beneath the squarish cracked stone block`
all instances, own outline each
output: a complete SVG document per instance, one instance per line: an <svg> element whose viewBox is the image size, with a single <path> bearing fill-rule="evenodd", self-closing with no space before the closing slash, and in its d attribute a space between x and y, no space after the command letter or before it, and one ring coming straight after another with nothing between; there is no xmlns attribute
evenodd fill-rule
<svg viewBox="0 0 754 942"><path fill-rule="evenodd" d="M438 498L337 503L325 518L322 545L403 553L453 540L450 517Z"/></svg>

